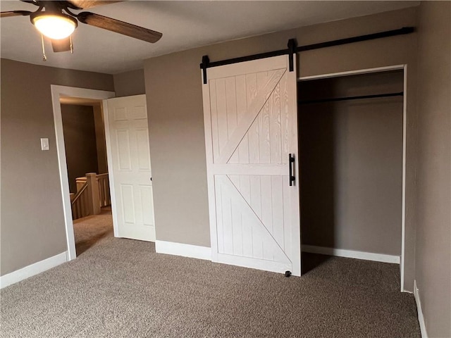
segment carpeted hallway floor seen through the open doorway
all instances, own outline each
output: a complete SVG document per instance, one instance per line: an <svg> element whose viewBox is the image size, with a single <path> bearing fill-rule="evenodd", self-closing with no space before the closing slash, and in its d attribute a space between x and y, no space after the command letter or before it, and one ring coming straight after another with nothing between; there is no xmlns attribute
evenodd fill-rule
<svg viewBox="0 0 451 338"><path fill-rule="evenodd" d="M105 237L113 237L111 206L101 208L99 215L90 215L73 221L77 256L87 251Z"/></svg>

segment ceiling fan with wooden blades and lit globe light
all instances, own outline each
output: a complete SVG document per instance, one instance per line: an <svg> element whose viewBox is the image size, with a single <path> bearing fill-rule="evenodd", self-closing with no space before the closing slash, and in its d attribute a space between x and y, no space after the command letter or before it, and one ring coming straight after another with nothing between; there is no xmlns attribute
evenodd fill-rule
<svg viewBox="0 0 451 338"><path fill-rule="evenodd" d="M51 46L54 52L72 51L72 40L70 35L80 23L110 30L128 37L135 37L146 42L157 42L162 34L144 27L124 23L121 20L108 18L91 12L73 13L85 8L112 4L121 1L105 0L64 0L64 1L44 1L44 0L20 0L37 6L37 11L7 11L1 12L1 18L25 15L30 16L30 21L42 35L51 39Z"/></svg>

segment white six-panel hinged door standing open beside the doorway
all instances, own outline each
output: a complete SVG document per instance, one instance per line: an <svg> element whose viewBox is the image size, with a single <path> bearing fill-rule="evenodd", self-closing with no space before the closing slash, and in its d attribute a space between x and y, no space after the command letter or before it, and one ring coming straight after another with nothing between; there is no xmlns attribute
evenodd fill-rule
<svg viewBox="0 0 451 338"><path fill-rule="evenodd" d="M155 241L146 96L108 99L111 204L117 237ZM112 168L111 168L112 167ZM112 182L111 182L112 181Z"/></svg>

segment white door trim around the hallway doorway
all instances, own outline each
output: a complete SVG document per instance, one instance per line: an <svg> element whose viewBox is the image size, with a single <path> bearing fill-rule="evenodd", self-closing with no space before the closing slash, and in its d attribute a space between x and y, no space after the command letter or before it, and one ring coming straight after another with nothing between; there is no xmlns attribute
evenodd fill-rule
<svg viewBox="0 0 451 338"><path fill-rule="evenodd" d="M85 89L78 87L66 87L51 84L51 103L54 110L56 151L58 154L58 168L61 183L61 196L63 199L64 223L66 226L66 239L68 246L68 261L75 259L75 238L73 235L72 208L70 206L68 168L66 162L66 149L64 147L63 120L61 118L60 96L81 97L84 99L109 99L114 97L114 92L104 90ZM114 212L113 212L114 213Z"/></svg>

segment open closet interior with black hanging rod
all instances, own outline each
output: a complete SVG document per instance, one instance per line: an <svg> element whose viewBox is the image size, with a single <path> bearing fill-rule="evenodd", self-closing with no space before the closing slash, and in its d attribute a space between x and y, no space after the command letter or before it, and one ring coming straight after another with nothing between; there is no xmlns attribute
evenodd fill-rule
<svg viewBox="0 0 451 338"><path fill-rule="evenodd" d="M402 280L404 68L300 78L297 91L303 273L342 256L401 264Z"/></svg>

